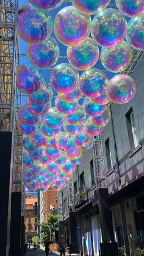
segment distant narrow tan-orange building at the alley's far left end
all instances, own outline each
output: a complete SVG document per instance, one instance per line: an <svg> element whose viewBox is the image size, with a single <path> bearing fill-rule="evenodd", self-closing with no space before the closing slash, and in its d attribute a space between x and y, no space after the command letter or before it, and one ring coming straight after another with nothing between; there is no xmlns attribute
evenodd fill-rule
<svg viewBox="0 0 144 256"><path fill-rule="evenodd" d="M33 194L26 195L26 210L25 210L25 243L31 243L32 237L37 235L38 228L38 198Z"/></svg>

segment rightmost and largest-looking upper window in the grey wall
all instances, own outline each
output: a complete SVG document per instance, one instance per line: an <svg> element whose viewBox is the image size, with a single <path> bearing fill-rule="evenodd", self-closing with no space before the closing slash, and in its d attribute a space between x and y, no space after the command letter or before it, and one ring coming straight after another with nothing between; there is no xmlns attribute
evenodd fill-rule
<svg viewBox="0 0 144 256"><path fill-rule="evenodd" d="M126 126L128 130L129 144L131 149L134 149L139 145L137 137L137 129L135 127L134 112L132 107L126 113Z"/></svg>

